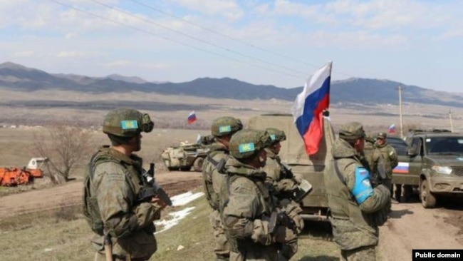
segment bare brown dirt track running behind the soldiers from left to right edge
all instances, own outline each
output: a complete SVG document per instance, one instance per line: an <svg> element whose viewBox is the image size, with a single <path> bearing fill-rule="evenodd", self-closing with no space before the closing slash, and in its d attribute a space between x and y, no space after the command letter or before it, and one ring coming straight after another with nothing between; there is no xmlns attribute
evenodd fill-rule
<svg viewBox="0 0 463 261"><path fill-rule="evenodd" d="M201 173L170 172L157 174L157 182L170 195L177 195L197 188ZM2 197L2 218L79 204L82 182L44 190ZM390 220L380 227L380 260L412 260L412 249L463 249L463 211L459 204L443 208L425 209L418 202L392 204Z"/></svg>

